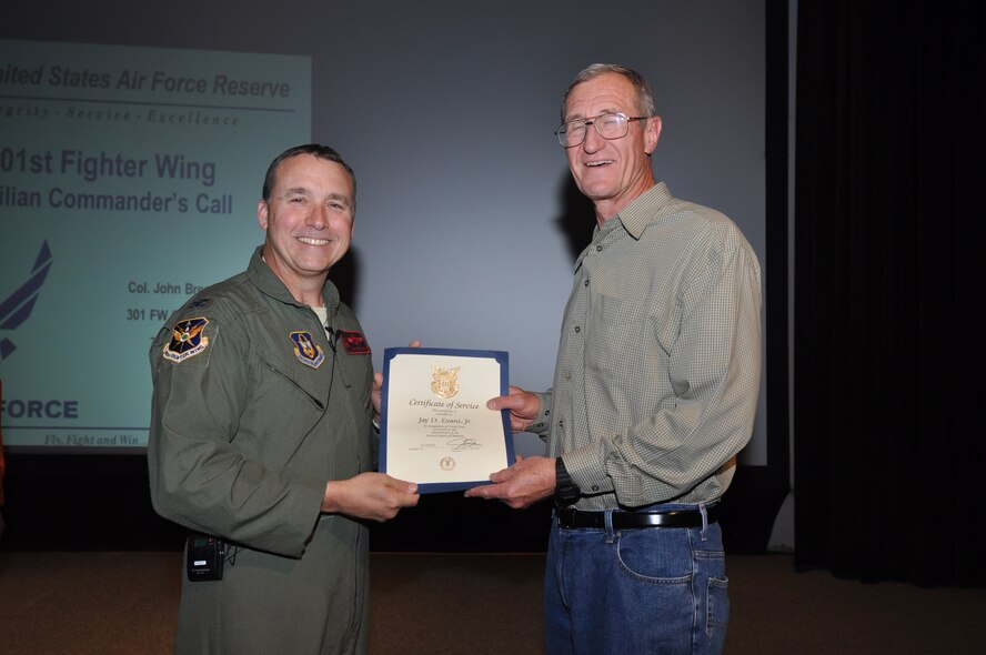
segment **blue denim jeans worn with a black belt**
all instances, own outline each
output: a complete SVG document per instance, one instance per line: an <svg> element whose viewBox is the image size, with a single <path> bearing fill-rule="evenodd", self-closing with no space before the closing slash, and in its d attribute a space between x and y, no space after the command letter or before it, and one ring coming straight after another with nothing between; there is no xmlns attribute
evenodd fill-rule
<svg viewBox="0 0 986 655"><path fill-rule="evenodd" d="M722 653L730 621L725 568L717 523L614 532L565 530L553 521L544 577L545 653Z"/></svg>

